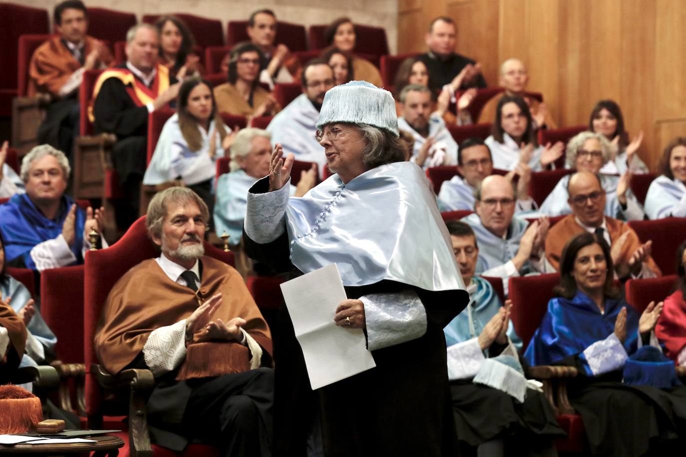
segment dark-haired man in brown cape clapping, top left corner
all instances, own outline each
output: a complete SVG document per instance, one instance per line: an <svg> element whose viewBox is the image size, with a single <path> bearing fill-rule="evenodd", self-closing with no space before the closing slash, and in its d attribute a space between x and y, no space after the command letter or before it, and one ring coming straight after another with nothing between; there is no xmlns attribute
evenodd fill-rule
<svg viewBox="0 0 686 457"><path fill-rule="evenodd" d="M47 143L71 156L73 139L79 134L79 86L84 71L114 64L102 41L88 36L88 11L81 0L58 3L54 12L58 34L34 51L29 63L27 95L50 99L45 119L38 128L38 143Z"/></svg>

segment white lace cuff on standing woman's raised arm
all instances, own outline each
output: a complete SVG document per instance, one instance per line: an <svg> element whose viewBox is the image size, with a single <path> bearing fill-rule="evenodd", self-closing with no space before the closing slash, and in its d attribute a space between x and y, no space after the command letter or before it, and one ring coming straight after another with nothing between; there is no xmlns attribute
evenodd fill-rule
<svg viewBox="0 0 686 457"><path fill-rule="evenodd" d="M269 177L263 177L253 184L252 188L263 183L263 180L269 180ZM248 191L245 228L246 234L255 243L261 245L271 243L285 230L284 220L290 191L289 184L290 180L279 190L261 194L252 193L252 188Z"/></svg>

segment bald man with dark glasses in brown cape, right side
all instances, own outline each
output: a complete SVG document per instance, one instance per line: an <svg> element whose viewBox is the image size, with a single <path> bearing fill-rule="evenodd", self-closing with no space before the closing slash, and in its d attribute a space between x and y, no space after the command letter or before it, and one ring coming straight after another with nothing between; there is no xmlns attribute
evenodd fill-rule
<svg viewBox="0 0 686 457"><path fill-rule="evenodd" d="M659 267L650 257L652 241L641 243L636 232L626 222L604 214L605 191L598 175L589 171L574 173L567 188L567 202L572 214L556 223L545 238L547 260L555 269L559 269L560 257L567 240L585 230L603 238L610 246L615 277L619 280L661 275Z"/></svg>

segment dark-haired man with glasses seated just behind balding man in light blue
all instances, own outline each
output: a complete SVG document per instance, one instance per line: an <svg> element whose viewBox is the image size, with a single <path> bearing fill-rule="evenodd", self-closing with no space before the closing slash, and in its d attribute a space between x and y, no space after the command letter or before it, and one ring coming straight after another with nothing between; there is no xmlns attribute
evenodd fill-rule
<svg viewBox="0 0 686 457"><path fill-rule="evenodd" d="M458 174L440 186L438 208L442 211L473 210L477 186L491 174L493 158L490 156L490 149L481 138L467 138L458 149ZM534 210L536 202L528 195L531 168L528 164L520 163L505 177L511 181L515 175L519 175L519 180L514 212Z"/></svg>

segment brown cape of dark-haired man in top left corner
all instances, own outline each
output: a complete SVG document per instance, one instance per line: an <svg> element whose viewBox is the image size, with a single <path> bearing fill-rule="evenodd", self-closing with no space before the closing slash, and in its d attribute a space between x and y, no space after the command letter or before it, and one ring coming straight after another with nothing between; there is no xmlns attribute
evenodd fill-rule
<svg viewBox="0 0 686 457"><path fill-rule="evenodd" d="M84 46L84 58L93 51L97 40L92 36L86 36ZM111 66L115 59L107 50L100 62L105 66ZM71 55L67 46L60 36L50 38L40 45L31 58L29 64L28 95L32 97L39 92L48 92L58 98L58 92L72 73L82 67L82 64Z"/></svg>

